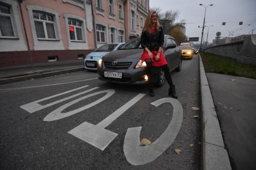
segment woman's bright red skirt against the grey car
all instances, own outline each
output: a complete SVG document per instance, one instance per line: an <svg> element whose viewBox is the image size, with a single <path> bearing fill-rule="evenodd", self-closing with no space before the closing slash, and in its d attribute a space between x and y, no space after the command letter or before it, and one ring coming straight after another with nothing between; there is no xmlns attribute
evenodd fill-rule
<svg viewBox="0 0 256 170"><path fill-rule="evenodd" d="M157 53L158 53L158 50L152 51L153 58L150 58L149 55L148 55L148 52L146 52L146 50L144 50L143 53L142 53L142 58L141 58L142 62L145 61L146 58L149 58L149 59L151 59L153 66L166 65L167 62L166 62L166 59L164 58L163 52L160 53L160 58L158 59L158 61L155 60L155 57L157 56Z"/></svg>

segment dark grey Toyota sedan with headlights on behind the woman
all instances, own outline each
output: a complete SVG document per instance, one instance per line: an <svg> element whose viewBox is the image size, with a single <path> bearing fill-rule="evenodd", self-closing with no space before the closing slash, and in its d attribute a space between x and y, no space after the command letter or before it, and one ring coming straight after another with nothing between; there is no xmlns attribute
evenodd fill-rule
<svg viewBox="0 0 256 170"><path fill-rule="evenodd" d="M145 71L146 63L140 59L142 52L140 38L134 38L124 44L120 50L102 56L98 61L98 78L114 83L148 83ZM181 49L170 35L164 35L163 53L170 71L180 71ZM164 81L164 72L160 70L155 85L161 87Z"/></svg>

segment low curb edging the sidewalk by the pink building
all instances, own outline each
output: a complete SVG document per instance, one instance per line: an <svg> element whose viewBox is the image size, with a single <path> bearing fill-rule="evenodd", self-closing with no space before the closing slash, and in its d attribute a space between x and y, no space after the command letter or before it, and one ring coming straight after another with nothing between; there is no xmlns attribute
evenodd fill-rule
<svg viewBox="0 0 256 170"><path fill-rule="evenodd" d="M19 82L23 80L28 80L28 79L38 79L38 78L43 78L43 77L49 77L49 76L54 76L57 74L63 74L63 73L71 73L75 71L81 71L84 70L84 67L78 67L78 68L70 68L66 70L59 70L59 71L50 71L46 73L39 73L39 74L31 74L28 76L19 76L19 77L11 77L8 79L0 79L0 84L6 84L6 83L12 83L12 82Z"/></svg>

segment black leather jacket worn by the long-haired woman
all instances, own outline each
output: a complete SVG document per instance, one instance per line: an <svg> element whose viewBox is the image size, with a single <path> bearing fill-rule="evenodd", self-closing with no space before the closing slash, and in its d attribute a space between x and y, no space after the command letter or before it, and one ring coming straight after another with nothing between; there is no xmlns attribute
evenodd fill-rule
<svg viewBox="0 0 256 170"><path fill-rule="evenodd" d="M149 50L158 50L159 47L163 47L164 44L164 30L160 26L158 31L155 31L153 34L148 31L142 31L142 36L140 37L140 44L143 49L148 47Z"/></svg>

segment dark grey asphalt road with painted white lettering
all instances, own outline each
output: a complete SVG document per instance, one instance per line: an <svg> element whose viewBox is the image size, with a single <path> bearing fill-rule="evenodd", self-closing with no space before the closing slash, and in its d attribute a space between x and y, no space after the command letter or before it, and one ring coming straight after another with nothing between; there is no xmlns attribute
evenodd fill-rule
<svg viewBox="0 0 256 170"><path fill-rule="evenodd" d="M167 82L150 97L145 85L102 82L92 71L1 85L0 169L199 169L198 69L194 55L172 72L178 101Z"/></svg>

